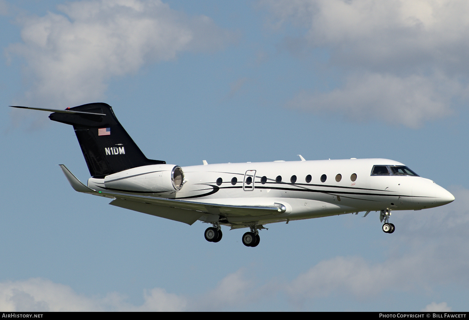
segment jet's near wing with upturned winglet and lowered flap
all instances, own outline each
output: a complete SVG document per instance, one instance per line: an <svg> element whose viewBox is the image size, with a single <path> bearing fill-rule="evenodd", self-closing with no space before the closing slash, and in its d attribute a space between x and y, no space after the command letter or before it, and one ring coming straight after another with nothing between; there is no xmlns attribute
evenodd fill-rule
<svg viewBox="0 0 469 320"><path fill-rule="evenodd" d="M272 206L224 205L131 195L121 192L101 192L85 186L64 165L59 166L75 191L95 196L113 198L114 200L110 203L112 205L151 214L161 218L184 222L189 225L193 224L198 218L202 217L202 215L206 213L232 217L258 217L272 214L277 215L287 210L283 204L272 204Z"/></svg>

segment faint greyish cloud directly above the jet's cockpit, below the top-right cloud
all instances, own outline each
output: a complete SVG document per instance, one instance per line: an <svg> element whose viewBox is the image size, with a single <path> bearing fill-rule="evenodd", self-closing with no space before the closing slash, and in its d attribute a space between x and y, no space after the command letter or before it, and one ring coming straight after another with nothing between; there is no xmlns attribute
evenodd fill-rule
<svg viewBox="0 0 469 320"><path fill-rule="evenodd" d="M288 102L291 108L329 112L357 121L379 119L416 128L426 120L450 114L450 96L440 93L449 80L410 75L367 73L346 79L344 87L329 92L301 92Z"/></svg>

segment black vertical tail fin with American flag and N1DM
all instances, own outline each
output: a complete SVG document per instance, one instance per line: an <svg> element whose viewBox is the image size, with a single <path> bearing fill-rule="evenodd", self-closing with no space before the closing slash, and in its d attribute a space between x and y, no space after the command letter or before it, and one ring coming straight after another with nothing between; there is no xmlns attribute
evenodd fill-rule
<svg viewBox="0 0 469 320"><path fill-rule="evenodd" d="M88 103L67 110L85 113L54 112L49 118L73 125L91 176L104 178L133 167L166 163L145 157L119 123L110 105Z"/></svg>

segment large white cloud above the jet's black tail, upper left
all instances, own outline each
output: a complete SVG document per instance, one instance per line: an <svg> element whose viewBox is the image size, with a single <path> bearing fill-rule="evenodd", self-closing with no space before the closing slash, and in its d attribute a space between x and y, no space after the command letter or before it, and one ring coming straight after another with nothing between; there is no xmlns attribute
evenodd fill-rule
<svg viewBox="0 0 469 320"><path fill-rule="evenodd" d="M160 0L89 0L58 7L63 14L29 16L22 56L32 86L26 102L68 107L103 98L107 80L136 73L182 51L213 51L229 41L206 16L189 17Z"/></svg>

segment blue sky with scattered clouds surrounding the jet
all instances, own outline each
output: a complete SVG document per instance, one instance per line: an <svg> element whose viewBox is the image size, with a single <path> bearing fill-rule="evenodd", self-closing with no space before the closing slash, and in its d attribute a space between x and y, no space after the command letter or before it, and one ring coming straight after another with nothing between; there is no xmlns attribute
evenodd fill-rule
<svg viewBox="0 0 469 320"><path fill-rule="evenodd" d="M467 310L469 5L461 1L0 0L1 310ZM48 113L106 102L150 159L389 158L441 208L184 225L73 191Z"/></svg>

